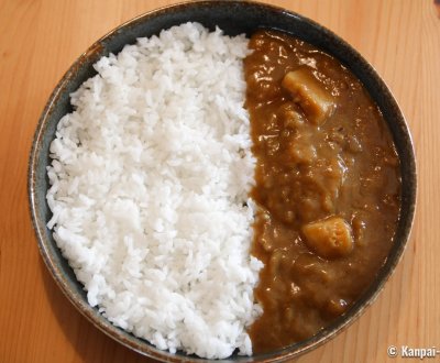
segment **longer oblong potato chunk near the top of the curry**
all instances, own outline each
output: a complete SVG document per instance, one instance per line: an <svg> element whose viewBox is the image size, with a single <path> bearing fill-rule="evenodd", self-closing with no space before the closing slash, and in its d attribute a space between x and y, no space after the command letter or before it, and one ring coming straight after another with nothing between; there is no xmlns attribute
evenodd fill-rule
<svg viewBox="0 0 440 363"><path fill-rule="evenodd" d="M334 110L333 97L323 88L311 73L311 68L301 67L284 76L282 86L292 92L308 119L317 125L326 122Z"/></svg>

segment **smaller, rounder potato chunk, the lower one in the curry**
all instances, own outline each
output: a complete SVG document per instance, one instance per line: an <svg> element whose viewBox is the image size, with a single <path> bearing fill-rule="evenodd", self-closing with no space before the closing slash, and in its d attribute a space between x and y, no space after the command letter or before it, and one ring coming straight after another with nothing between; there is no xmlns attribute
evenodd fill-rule
<svg viewBox="0 0 440 363"><path fill-rule="evenodd" d="M302 227L306 244L319 256L337 258L353 250L351 227L340 217L331 217Z"/></svg>

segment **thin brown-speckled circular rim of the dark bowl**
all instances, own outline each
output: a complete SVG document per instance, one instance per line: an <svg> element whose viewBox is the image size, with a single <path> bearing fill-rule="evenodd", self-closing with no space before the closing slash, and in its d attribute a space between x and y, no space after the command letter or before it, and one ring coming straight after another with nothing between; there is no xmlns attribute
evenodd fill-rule
<svg viewBox="0 0 440 363"><path fill-rule="evenodd" d="M42 138L44 135L48 118L52 113L53 108L55 107L56 102L58 101L64 87L68 82L68 80L74 77L76 70L85 63L87 59L92 57L95 54L98 54L102 48L102 43L112 37L113 35L117 35L120 31L123 29L136 24L139 22L144 22L147 21L150 18L160 14L161 12L167 12L169 10L176 10L178 11L179 9L184 9L186 7L204 7L204 6L216 6L216 4L224 4L224 3L235 3L235 4L246 4L250 7L257 7L262 9L267 9L271 11L277 11L282 12L283 14L289 14L293 15L297 19L300 19L301 21L310 24L311 26L319 29L320 32L327 33L331 37L338 40L345 48L348 48L356 58L362 61L364 65L370 68L370 72L376 77L376 79L382 84L383 90L387 92L392 101L395 103L397 112L398 112L398 118L400 119L402 124L402 132L406 136L406 146L408 147L408 153L410 156L409 160L409 168L411 170L410 176L409 176L409 183L411 184L411 193L409 194L409 207L407 210L408 217L406 218L407 223L405 224L404 228L404 238L398 244L398 248L394 252L394 258L392 263L388 265L388 268L385 271L383 276L378 279L377 284L372 283L372 286L358 299L358 301L351 307L349 312L343 316L341 316L339 319L333 321L329 327L320 330L317 332L314 337L300 341L298 343L294 343L288 345L287 348L284 348L282 350L277 350L272 353L265 353L265 354L258 354L258 355L251 355L251 356L238 356L233 361L239 361L239 362L256 362L256 361L264 361L264 362L282 362L286 361L288 359L293 359L295 356L301 355L304 353L307 353L324 342L336 338L340 332L342 332L344 329L346 329L350 324L352 324L365 310L367 307L370 307L377 298L378 294L383 290L385 283L389 279L389 277L393 275L395 267L397 264L400 262L403 257L403 253L408 244L408 241L410 239L410 233L411 233L411 228L414 224L414 217L415 217L415 208L417 204L417 165L416 165L416 157L415 157L415 148L414 148L414 142L411 134L409 132L408 123L406 122L406 119L404 114L402 113L402 109L399 108L394 95L389 90L389 88L386 86L385 81L382 79L382 77L378 75L378 73L375 70L375 68L353 47L351 44L349 44L346 41L341 38L339 35L330 31L329 29L324 28L323 25L315 22L314 20L310 20L307 16L304 16L295 11L286 10L284 8L273 6L273 4L267 4L264 2L260 1L253 1L253 0L195 0L195 1L184 1L184 2L178 2L165 7L160 7L157 9L144 12L135 18L132 18L122 24L113 28L111 31L107 32L105 35L102 35L99 40L94 42L82 54L79 55L79 57L76 58L76 61L69 66L69 68L65 72L63 77L57 81L54 90L52 91L44 109L43 112L38 119L38 123L36 125L36 130L33 136L33 142L32 142L32 148L30 153L30 158L29 158L29 168L28 168L28 195L29 195L29 210L31 215L31 220L32 220L32 226L35 231L35 235L37 239L37 245L40 250L40 254L43 257L43 261L48 268L52 277L54 278L55 283L58 285L63 294L67 297L67 299L75 306L75 308L84 316L86 317L96 328L101 330L103 333L106 333L108 337L112 338L113 340L118 341L119 343L125 345L127 348L136 351L138 353L141 353L142 355L160 360L163 362L211 362L211 361L231 361L230 359L226 360L207 360L202 358L197 358L193 355L176 355L173 353L169 353L167 351L162 351L152 345L150 342L142 338L138 338L132 333L129 333L127 331L123 331L121 328L118 328L113 326L110 321L107 320L107 318L103 318L100 312L98 312L96 309L91 308L88 302L82 301L82 299L78 298L78 296L69 288L68 286L68 278L66 275L61 271L59 266L54 260L54 256L52 255L51 251L48 250L48 244L51 243L48 240L45 239L44 237L44 229L46 228L45 222L42 218L38 216L37 211L37 206L36 206L36 165L38 163L38 150L42 143ZM341 59L338 59L341 62ZM358 77L358 76L356 76ZM400 156L400 155L399 155ZM402 211L400 211L402 216ZM388 258L387 258L388 260ZM384 263L385 264L385 263ZM365 297L365 298L363 298ZM352 311L352 314L350 314ZM127 337L130 336L130 337Z"/></svg>

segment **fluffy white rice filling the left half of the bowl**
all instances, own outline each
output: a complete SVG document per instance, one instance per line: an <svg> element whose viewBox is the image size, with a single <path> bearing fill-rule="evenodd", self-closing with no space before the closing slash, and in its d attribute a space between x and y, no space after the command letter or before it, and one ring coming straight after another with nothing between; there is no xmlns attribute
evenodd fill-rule
<svg viewBox="0 0 440 363"><path fill-rule="evenodd" d="M47 223L87 298L161 350L252 354L244 36L187 23L101 58L47 167Z"/></svg>

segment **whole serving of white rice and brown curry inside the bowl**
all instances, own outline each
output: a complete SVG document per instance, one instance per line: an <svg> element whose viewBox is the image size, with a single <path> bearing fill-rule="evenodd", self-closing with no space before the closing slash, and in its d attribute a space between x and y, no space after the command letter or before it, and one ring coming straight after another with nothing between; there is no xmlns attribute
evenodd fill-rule
<svg viewBox="0 0 440 363"><path fill-rule="evenodd" d="M48 227L112 323L170 352L251 355L314 336L373 282L399 161L339 62L187 23L95 68L51 146Z"/></svg>

